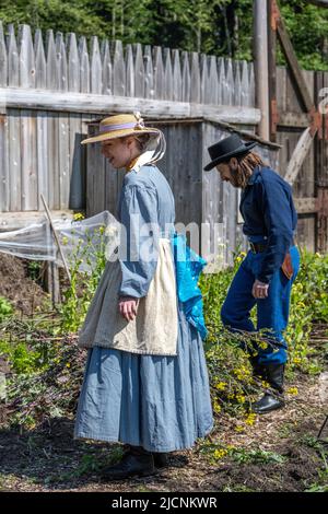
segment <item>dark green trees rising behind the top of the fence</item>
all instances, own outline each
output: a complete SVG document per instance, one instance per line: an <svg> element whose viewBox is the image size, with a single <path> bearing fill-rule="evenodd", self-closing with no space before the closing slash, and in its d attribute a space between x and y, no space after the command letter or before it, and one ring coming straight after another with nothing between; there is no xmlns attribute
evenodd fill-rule
<svg viewBox="0 0 328 514"><path fill-rule="evenodd" d="M279 3L301 65L327 70L328 10ZM0 20L251 60L253 0L14 0L0 7Z"/></svg>

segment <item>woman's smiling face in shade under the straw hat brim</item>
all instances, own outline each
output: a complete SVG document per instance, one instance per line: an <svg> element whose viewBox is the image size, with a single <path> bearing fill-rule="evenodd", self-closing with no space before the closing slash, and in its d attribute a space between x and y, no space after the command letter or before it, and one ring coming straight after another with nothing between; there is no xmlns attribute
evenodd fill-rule
<svg viewBox="0 0 328 514"><path fill-rule="evenodd" d="M134 138L108 139L102 142L102 154L108 159L113 167L127 167L140 152Z"/></svg>

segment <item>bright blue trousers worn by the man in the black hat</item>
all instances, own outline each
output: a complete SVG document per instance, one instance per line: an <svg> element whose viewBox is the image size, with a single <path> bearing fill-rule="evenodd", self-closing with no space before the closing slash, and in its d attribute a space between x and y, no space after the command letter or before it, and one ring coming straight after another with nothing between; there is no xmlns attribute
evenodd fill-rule
<svg viewBox="0 0 328 514"><path fill-rule="evenodd" d="M270 281L268 296L255 299L251 289L265 254L254 254L249 250L241 264L222 305L221 319L230 330L248 332L263 330L263 334L267 335L268 347L266 349L260 348L256 342L253 343L259 364L283 364L286 362L286 341L283 331L289 322L292 284L300 269L297 247L292 246L290 253L294 269L293 277L289 280L279 269ZM257 329L250 319L250 311L255 305L257 306Z"/></svg>

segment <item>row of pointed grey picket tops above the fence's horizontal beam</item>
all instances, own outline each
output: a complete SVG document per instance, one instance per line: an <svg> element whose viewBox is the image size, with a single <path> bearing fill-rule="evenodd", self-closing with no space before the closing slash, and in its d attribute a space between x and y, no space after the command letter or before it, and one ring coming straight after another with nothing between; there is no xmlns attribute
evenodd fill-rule
<svg viewBox="0 0 328 514"><path fill-rule="evenodd" d="M28 25L7 30L0 22L0 86L33 87L211 105L254 106L254 67L246 61L124 45L90 42Z"/></svg>

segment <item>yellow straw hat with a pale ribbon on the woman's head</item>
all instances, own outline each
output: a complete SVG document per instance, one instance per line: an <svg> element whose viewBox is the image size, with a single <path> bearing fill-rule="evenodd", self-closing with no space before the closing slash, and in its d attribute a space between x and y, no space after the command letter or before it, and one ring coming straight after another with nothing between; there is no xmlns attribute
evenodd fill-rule
<svg viewBox="0 0 328 514"><path fill-rule="evenodd" d="M161 131L152 127L144 127L140 113L119 114L102 119L99 133L84 139L82 144L106 141L107 139L124 138L126 136L139 136L140 133L159 135Z"/></svg>

